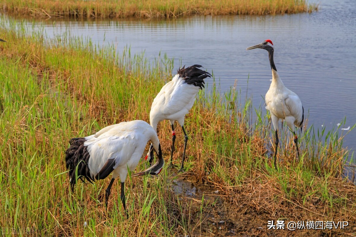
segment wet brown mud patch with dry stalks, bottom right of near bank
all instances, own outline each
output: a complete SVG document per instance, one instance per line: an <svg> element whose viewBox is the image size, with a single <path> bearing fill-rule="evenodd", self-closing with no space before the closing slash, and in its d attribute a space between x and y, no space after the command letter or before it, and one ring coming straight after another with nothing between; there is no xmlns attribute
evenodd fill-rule
<svg viewBox="0 0 356 237"><path fill-rule="evenodd" d="M356 232L356 226L351 222L345 230L288 230L289 221L303 220L288 220L287 216L272 217L252 205L236 206L235 203L229 202L228 196L220 188L199 184L193 177L185 174L172 180L171 189L179 201L189 206L189 210L183 210L189 230L182 231L179 236L324 237L347 236L347 233ZM284 220L286 226L284 229L268 229L268 221L271 220L274 223Z"/></svg>

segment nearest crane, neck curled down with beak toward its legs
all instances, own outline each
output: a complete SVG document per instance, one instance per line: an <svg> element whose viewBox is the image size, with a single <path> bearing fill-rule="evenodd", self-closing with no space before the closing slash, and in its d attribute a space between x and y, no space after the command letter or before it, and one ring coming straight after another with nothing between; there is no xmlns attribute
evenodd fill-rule
<svg viewBox="0 0 356 237"><path fill-rule="evenodd" d="M85 178L93 183L92 181L95 181L95 179L105 179L112 173L109 186L105 190L105 205L108 206L112 183L117 176L120 176L120 198L128 216L125 201L127 168L130 171L136 168L149 140L156 150L158 161L145 171L132 174L131 177L145 174L156 175L161 172L164 165L157 133L148 123L142 120L122 122L107 126L94 135L85 138L70 139L70 146L66 151L66 166L69 170L69 182L72 191L77 179L85 182Z"/></svg>

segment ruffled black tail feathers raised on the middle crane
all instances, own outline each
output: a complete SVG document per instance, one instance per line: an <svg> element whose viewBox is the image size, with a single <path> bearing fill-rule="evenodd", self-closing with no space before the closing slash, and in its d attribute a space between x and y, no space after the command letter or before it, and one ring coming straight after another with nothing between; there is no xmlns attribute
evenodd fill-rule
<svg viewBox="0 0 356 237"><path fill-rule="evenodd" d="M201 65L195 64L185 68L184 65L183 68L178 69L177 73L180 77L183 78L183 80L185 80L185 83L188 85L193 84L194 86L198 86L200 89L203 89L205 84L204 79L206 77L211 77L211 74L199 68L203 67Z"/></svg>

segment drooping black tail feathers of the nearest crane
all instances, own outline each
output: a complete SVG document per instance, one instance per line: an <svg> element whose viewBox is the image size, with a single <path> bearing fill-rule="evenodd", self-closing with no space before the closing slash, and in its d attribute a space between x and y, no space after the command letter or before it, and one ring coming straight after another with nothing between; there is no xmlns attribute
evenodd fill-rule
<svg viewBox="0 0 356 237"><path fill-rule="evenodd" d="M88 182L93 183L94 178L90 175L88 167L89 152L87 146L84 146L84 138L72 138L69 140L69 148L66 150L66 167L69 170L70 187L72 191L77 180L80 179L85 183L85 179ZM76 170L78 176L76 177ZM84 179L85 178L85 179Z"/></svg>

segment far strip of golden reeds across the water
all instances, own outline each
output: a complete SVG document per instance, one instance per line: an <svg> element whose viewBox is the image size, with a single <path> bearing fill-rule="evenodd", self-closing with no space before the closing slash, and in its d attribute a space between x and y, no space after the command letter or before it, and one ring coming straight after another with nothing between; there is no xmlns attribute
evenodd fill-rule
<svg viewBox="0 0 356 237"><path fill-rule="evenodd" d="M33 17L72 18L170 18L190 15L265 15L311 12L315 4L305 0L4 0L1 11Z"/></svg>

